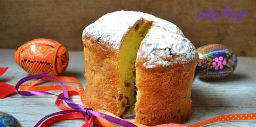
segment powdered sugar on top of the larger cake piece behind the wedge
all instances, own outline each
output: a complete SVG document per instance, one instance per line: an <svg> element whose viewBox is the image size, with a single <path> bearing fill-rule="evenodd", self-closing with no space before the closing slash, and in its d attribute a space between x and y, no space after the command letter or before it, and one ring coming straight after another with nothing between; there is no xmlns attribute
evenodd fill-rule
<svg viewBox="0 0 256 127"><path fill-rule="evenodd" d="M153 25L160 25L170 32L184 36L176 25L166 20L156 18L147 13L133 11L107 13L94 23L88 25L84 29L82 36L88 36L95 40L99 39L99 43L109 45L118 50L123 36L141 19L153 21Z"/></svg>

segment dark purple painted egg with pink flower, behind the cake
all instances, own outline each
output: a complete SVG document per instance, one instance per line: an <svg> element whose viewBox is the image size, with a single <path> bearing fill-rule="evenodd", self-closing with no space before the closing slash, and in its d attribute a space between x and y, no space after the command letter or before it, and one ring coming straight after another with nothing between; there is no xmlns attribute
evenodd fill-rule
<svg viewBox="0 0 256 127"><path fill-rule="evenodd" d="M230 75L236 69L237 57L227 46L207 44L197 49L201 63L195 73L202 79L216 79Z"/></svg>

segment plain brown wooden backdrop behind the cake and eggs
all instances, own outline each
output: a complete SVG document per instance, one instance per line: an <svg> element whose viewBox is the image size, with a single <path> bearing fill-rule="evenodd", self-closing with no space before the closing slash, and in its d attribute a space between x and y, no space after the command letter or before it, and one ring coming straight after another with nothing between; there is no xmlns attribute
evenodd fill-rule
<svg viewBox="0 0 256 127"><path fill-rule="evenodd" d="M196 19L203 9L247 10L234 19ZM81 33L102 15L118 10L153 14L178 25L196 47L225 44L238 56L256 57L256 0L0 0L0 48L17 48L34 38L52 38L82 51Z"/></svg>

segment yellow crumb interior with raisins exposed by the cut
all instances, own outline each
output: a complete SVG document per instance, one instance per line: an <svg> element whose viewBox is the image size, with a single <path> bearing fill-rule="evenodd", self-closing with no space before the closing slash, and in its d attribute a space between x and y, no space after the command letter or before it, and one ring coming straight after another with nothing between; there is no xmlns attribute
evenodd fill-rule
<svg viewBox="0 0 256 127"><path fill-rule="evenodd" d="M118 92L118 100L120 104L120 114L125 113L130 106L135 104L136 88L135 88L135 60L139 50L141 41L148 33L152 22L147 20L138 21L133 28L129 30L119 50L119 71L120 86Z"/></svg>

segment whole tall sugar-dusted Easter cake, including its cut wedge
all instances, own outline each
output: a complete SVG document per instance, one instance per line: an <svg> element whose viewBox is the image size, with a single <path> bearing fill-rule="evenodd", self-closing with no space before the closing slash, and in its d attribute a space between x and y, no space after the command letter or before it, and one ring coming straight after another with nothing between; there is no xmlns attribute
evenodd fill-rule
<svg viewBox="0 0 256 127"><path fill-rule="evenodd" d="M118 11L88 25L82 39L89 108L121 116L135 104L135 121L150 126L187 120L198 55L176 25Z"/></svg>

